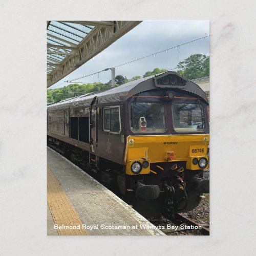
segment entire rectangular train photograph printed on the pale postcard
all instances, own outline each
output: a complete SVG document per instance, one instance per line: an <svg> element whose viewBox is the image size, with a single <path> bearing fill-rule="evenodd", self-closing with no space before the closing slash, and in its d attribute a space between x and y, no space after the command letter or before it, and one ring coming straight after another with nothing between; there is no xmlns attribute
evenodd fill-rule
<svg viewBox="0 0 256 256"><path fill-rule="evenodd" d="M47 22L47 234L209 235L209 22Z"/></svg>

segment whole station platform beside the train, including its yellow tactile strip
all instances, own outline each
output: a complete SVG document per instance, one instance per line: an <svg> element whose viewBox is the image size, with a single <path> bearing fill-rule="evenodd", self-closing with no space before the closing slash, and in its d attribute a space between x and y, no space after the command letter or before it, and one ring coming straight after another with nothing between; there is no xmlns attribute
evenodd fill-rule
<svg viewBox="0 0 256 256"><path fill-rule="evenodd" d="M47 148L49 236L165 235L109 189Z"/></svg>

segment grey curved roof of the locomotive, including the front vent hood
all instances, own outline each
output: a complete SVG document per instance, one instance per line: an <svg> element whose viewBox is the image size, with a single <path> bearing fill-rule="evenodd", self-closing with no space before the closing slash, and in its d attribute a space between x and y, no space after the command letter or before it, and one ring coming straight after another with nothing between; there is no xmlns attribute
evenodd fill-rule
<svg viewBox="0 0 256 256"><path fill-rule="evenodd" d="M127 82L121 86L111 89L96 91L86 95L61 100L49 105L48 108L51 110L57 110L70 108L70 106L89 106L96 97L98 104L123 102L140 92L160 88L186 91L199 96L208 103L206 94L196 83L180 76L177 72L167 71L162 74Z"/></svg>

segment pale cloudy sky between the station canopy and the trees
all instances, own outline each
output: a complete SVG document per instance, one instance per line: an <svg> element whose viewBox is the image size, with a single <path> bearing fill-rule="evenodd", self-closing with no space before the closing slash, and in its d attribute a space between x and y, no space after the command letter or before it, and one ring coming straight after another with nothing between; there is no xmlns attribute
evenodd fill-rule
<svg viewBox="0 0 256 256"><path fill-rule="evenodd" d="M143 21L77 70L53 84L49 89L68 86L70 83L63 82L112 68L207 35L209 35L209 22L205 20ZM136 75L143 76L145 72L153 71L155 68L174 69L177 67L178 61L196 53L209 56L209 37L117 67L115 76L122 75L131 79ZM99 81L106 83L110 79L111 71L106 71L74 80L72 83Z"/></svg>

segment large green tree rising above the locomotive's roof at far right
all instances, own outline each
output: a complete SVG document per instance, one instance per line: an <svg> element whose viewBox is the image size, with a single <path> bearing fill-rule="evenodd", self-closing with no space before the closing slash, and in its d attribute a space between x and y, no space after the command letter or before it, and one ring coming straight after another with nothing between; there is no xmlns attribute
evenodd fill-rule
<svg viewBox="0 0 256 256"><path fill-rule="evenodd" d="M180 61L178 73L187 79L209 76L209 56L202 54L193 54Z"/></svg>

